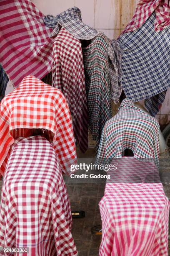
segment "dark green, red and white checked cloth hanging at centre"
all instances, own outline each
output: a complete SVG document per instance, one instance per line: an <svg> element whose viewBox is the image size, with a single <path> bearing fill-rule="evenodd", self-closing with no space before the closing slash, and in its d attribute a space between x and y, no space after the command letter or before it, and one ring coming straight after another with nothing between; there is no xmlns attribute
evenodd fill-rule
<svg viewBox="0 0 170 256"><path fill-rule="evenodd" d="M92 140L96 140L96 149L102 128L112 117L107 48L108 39L103 33L92 39L88 46L82 47L89 128Z"/></svg>

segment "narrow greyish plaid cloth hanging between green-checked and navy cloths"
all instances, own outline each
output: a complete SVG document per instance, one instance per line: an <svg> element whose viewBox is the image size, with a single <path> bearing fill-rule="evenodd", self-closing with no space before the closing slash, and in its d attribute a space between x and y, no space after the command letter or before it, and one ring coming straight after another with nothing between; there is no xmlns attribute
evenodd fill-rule
<svg viewBox="0 0 170 256"><path fill-rule="evenodd" d="M122 92L122 49L117 40L108 41L111 99L117 104Z"/></svg>

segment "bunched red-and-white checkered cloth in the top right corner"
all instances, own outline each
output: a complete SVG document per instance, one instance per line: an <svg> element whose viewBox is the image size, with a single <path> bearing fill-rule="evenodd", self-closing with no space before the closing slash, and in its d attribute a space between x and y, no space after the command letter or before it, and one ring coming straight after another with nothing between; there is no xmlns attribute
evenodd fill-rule
<svg viewBox="0 0 170 256"><path fill-rule="evenodd" d="M156 15L155 31L161 31L170 26L170 0L140 0L132 20L122 34L140 28L154 11Z"/></svg>

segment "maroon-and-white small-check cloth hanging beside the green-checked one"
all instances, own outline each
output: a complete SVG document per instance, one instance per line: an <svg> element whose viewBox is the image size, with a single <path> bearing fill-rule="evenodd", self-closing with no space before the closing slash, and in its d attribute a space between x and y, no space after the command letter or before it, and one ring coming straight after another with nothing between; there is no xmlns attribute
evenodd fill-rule
<svg viewBox="0 0 170 256"><path fill-rule="evenodd" d="M53 44L52 86L62 90L82 152L88 148L87 99L80 40L61 28Z"/></svg>

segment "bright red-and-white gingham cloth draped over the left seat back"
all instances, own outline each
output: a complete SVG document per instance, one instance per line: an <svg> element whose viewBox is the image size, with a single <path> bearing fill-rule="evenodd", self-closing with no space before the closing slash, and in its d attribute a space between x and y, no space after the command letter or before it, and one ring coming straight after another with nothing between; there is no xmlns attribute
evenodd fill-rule
<svg viewBox="0 0 170 256"><path fill-rule="evenodd" d="M15 131L22 128L24 131ZM60 90L33 76L25 77L19 87L1 101L1 174L5 171L5 157L14 139L18 136L32 135L33 128L50 131L49 140L53 137L53 148L60 160L62 172L71 174L69 167L70 162L76 162L76 149L67 101Z"/></svg>

